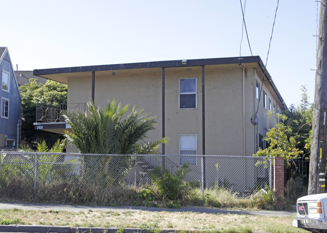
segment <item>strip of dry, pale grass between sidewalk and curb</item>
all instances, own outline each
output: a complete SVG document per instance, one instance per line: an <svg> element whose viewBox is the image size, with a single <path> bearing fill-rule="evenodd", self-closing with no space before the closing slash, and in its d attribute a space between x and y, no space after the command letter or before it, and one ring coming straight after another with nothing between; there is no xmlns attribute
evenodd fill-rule
<svg viewBox="0 0 327 233"><path fill-rule="evenodd" d="M21 219L20 224L77 227L177 229L189 231L307 232L292 226L293 217L150 211L35 211L0 210L0 219Z"/></svg>

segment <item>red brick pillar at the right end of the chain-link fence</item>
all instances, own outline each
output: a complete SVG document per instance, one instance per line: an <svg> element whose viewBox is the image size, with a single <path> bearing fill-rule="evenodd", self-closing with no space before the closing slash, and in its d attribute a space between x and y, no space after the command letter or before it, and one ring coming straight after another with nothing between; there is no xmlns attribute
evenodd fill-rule
<svg viewBox="0 0 327 233"><path fill-rule="evenodd" d="M284 197L284 158L274 158L274 191L276 196Z"/></svg>

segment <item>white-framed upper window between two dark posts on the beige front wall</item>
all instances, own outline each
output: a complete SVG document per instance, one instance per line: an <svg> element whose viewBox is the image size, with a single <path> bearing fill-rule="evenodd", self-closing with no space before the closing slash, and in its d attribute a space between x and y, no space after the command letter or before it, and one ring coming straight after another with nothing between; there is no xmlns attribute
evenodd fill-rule
<svg viewBox="0 0 327 233"><path fill-rule="evenodd" d="M196 78L180 79L180 108L196 108Z"/></svg>

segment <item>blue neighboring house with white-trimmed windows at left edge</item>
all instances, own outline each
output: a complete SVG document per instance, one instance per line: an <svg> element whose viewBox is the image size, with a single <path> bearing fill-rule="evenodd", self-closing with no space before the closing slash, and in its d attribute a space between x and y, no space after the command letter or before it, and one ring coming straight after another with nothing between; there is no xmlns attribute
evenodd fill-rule
<svg viewBox="0 0 327 233"><path fill-rule="evenodd" d="M17 148L22 97L7 47L0 47L0 80L0 148Z"/></svg>

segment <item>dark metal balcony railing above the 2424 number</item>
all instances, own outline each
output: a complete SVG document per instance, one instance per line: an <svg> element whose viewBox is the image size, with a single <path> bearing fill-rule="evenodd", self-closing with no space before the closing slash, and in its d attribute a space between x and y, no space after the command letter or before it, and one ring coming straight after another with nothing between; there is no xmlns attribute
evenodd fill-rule
<svg viewBox="0 0 327 233"><path fill-rule="evenodd" d="M67 103L60 105L37 105L36 106L36 122L65 122L63 113L65 111L81 111L88 110L87 103Z"/></svg>

